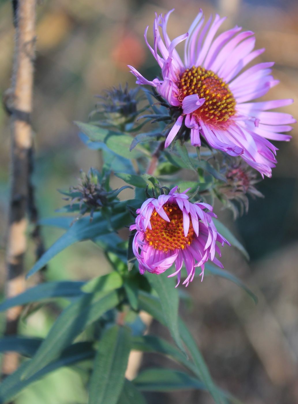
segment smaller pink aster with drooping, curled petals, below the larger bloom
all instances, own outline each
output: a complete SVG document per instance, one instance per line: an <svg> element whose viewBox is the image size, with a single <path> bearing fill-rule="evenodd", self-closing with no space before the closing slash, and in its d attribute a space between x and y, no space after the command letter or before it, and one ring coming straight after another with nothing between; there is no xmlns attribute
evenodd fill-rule
<svg viewBox="0 0 298 404"><path fill-rule="evenodd" d="M178 286L184 262L187 278L183 284L187 286L197 267L201 267L203 280L208 259L223 268L215 257L216 252L220 255L216 242L222 245L229 242L216 230L212 221L216 215L203 210L212 211L212 206L189 202L185 194L189 189L178 194L177 188L171 189L168 195L147 199L136 211L138 216L130 230L136 230L132 249L141 274L145 271L161 274L175 263L176 270L169 277L177 275Z"/></svg>

